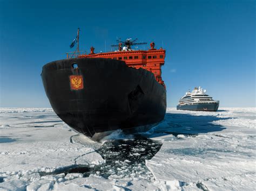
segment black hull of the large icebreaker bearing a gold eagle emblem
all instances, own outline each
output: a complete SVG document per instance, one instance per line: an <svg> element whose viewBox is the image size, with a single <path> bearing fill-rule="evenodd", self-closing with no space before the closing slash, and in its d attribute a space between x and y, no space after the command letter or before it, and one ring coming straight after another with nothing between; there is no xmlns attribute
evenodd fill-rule
<svg viewBox="0 0 256 191"><path fill-rule="evenodd" d="M73 68L77 63L78 68ZM163 120L166 90L145 69L124 61L76 58L53 61L42 70L46 95L56 114L71 128L95 133L149 126ZM81 76L73 89L71 76Z"/></svg>

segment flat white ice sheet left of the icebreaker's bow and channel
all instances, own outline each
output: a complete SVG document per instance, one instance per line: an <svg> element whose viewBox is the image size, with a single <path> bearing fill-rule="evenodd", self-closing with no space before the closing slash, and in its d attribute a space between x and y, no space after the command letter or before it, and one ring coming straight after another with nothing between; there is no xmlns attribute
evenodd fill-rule
<svg viewBox="0 0 256 191"><path fill-rule="evenodd" d="M46 180L38 172L104 162L90 142L88 146L70 142L77 133L52 109L3 108L0 113L0 177L5 178L0 190L28 185L28 189L51 188L56 181L53 176Z"/></svg>

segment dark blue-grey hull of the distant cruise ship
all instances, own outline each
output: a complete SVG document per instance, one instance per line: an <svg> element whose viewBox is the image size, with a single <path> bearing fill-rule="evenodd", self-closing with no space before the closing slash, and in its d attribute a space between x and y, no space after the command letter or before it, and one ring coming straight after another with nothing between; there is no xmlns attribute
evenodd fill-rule
<svg viewBox="0 0 256 191"><path fill-rule="evenodd" d="M177 105L177 110L191 110L191 111L217 111L219 103L198 103L192 105Z"/></svg>

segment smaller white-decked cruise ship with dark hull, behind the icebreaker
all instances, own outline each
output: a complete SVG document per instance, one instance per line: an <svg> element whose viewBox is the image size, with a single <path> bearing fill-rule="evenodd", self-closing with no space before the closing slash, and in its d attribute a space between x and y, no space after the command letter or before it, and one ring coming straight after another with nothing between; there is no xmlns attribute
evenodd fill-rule
<svg viewBox="0 0 256 191"><path fill-rule="evenodd" d="M193 110L193 111L217 111L219 101L214 101L212 97L206 94L200 86L194 88L192 92L188 90L186 94L180 98L177 105L178 110Z"/></svg>

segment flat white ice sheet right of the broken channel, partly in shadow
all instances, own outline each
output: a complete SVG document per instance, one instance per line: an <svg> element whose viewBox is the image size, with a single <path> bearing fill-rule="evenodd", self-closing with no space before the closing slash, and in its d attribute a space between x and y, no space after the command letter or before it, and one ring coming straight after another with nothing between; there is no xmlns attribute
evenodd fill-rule
<svg viewBox="0 0 256 191"><path fill-rule="evenodd" d="M163 189L255 190L255 108L167 112L155 132L194 135L163 137L160 151L146 161Z"/></svg>

